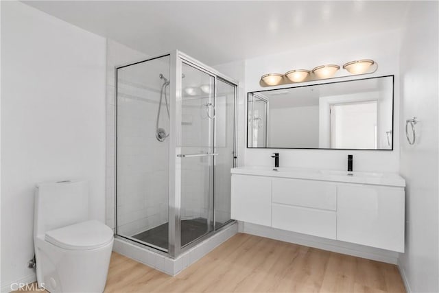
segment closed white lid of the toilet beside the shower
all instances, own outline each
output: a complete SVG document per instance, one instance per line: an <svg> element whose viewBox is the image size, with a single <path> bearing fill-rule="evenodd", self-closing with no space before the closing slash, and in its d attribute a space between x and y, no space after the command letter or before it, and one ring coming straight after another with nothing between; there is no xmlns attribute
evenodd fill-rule
<svg viewBox="0 0 439 293"><path fill-rule="evenodd" d="M112 239L112 230L97 220L57 228L45 235L47 242L70 250L99 248L112 242Z"/></svg>

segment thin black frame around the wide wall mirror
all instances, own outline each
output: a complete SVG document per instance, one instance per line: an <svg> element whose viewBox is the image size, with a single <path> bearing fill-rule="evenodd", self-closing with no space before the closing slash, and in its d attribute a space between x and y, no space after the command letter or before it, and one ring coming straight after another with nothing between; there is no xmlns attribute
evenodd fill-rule
<svg viewBox="0 0 439 293"><path fill-rule="evenodd" d="M289 87L281 87L277 89L265 89L262 91L249 91L247 92L247 98L246 98L246 148L247 149L255 149L255 150L265 150L265 149L272 149L272 150L370 150L370 151L393 151L394 150L394 135L392 134L392 148L389 149L370 149L370 148L259 148L259 147L249 147L248 146L248 99L250 97L250 94L254 93L264 93L268 91L277 91L277 90L285 90L285 89L295 89L305 86L318 86L321 84L338 84L341 82L354 82L357 80L370 80L375 78L392 78L392 133L394 133L394 113L395 113L395 75L381 75L381 76L374 76L372 78L359 78L359 79L353 79L353 80L340 80L337 82L324 82L319 84L305 84L300 86L289 86Z"/></svg>

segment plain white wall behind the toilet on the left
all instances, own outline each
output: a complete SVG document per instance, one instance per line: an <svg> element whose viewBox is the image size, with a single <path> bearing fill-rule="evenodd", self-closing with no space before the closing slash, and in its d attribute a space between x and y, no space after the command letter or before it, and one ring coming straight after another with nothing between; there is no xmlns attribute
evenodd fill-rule
<svg viewBox="0 0 439 293"><path fill-rule="evenodd" d="M1 286L34 281L34 186L85 178L105 218L105 39L1 1Z"/></svg>

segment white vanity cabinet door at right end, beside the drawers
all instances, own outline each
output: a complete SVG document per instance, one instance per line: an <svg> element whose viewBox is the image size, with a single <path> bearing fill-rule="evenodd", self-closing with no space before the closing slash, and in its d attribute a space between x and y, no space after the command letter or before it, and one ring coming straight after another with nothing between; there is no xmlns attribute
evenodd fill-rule
<svg viewBox="0 0 439 293"><path fill-rule="evenodd" d="M404 190L339 185L337 240L404 252Z"/></svg>

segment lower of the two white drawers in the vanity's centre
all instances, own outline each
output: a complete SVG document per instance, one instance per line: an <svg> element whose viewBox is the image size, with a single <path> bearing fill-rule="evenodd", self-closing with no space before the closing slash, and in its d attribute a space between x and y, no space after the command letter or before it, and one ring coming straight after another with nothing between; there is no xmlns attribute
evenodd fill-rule
<svg viewBox="0 0 439 293"><path fill-rule="evenodd" d="M272 204L272 226L287 231L336 238L335 211Z"/></svg>

